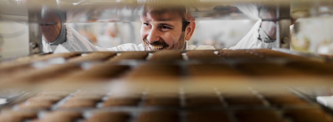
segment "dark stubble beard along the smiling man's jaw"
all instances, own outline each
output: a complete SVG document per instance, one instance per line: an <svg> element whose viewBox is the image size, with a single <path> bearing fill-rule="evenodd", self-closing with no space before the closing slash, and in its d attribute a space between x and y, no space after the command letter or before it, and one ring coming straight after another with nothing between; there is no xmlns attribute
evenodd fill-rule
<svg viewBox="0 0 333 122"><path fill-rule="evenodd" d="M154 46L166 46L166 43L162 42L162 41L156 41L156 42L153 42L153 43L149 43L148 40L147 40L147 38L143 39L142 43L144 45L145 51L149 50L148 44L154 45ZM165 47L162 50L186 50L185 32L184 31L181 32L180 37L179 37L177 43L175 43L172 46L167 46L167 47Z"/></svg>

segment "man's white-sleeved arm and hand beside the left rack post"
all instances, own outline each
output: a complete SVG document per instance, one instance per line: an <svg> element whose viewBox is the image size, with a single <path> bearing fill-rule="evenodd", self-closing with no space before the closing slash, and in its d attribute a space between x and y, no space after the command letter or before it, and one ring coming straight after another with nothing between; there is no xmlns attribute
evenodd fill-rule
<svg viewBox="0 0 333 122"><path fill-rule="evenodd" d="M62 12L49 12L43 18L45 23L56 23L56 25L41 24L44 53L54 52L59 45L62 45L70 52L109 51L95 47L77 31L67 26L64 23L65 19L65 13Z"/></svg>

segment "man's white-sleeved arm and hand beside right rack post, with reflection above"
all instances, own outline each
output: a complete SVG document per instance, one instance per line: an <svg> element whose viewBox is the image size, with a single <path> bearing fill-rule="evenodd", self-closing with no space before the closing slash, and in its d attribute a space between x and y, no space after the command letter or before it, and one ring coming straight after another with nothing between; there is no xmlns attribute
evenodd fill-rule
<svg viewBox="0 0 333 122"><path fill-rule="evenodd" d="M258 19L251 30L242 38L236 46L229 49L259 49L274 48L276 23L262 21L261 17L274 18L274 10L260 4L236 4L236 7L251 19Z"/></svg>

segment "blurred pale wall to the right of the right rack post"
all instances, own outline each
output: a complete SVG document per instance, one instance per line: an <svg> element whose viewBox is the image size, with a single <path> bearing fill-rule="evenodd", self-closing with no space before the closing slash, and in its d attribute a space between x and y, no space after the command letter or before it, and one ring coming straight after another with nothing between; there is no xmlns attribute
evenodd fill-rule
<svg viewBox="0 0 333 122"><path fill-rule="evenodd" d="M333 17L300 18L291 31L292 50L333 54Z"/></svg>

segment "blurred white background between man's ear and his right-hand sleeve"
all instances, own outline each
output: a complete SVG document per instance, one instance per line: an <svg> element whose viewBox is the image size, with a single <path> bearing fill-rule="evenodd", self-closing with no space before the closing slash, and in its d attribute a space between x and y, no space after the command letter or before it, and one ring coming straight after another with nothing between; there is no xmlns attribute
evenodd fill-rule
<svg viewBox="0 0 333 122"><path fill-rule="evenodd" d="M191 45L212 45L216 49L235 46L252 28L254 20L202 20L197 24Z"/></svg>

